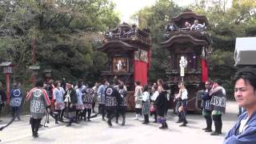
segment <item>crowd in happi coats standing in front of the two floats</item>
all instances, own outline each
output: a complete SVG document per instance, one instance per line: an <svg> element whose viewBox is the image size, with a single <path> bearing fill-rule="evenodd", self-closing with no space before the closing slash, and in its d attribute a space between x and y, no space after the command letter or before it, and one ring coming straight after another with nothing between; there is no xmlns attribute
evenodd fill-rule
<svg viewBox="0 0 256 144"><path fill-rule="evenodd" d="M64 79L65 80L65 79ZM0 85L1 86L1 85ZM166 114L169 108L170 91L162 79L158 79L153 86L141 86L141 82L134 82L134 102L135 118L134 120L143 120L142 124L150 123L150 115L154 117L154 122L161 123L160 129L167 129ZM186 126L186 107L188 102L188 91L184 82L178 83L178 94L175 94L176 103L175 114L178 115L177 123L182 122L180 126ZM206 132L210 132L212 119L215 124L215 131L212 135L222 134L222 113L225 112L225 101L222 103L220 110L214 105L215 95L218 90L222 90L220 98L224 97L225 90L209 80L206 82L206 90L202 94L203 115L206 118ZM122 116L122 126L126 125L126 108L127 108L127 88L121 80L107 81L103 79L101 84L97 82L93 85L91 82L79 81L77 84L66 83L65 81L55 81L50 79L49 82L43 82L38 79L35 87L26 94L26 101L30 102L30 124L33 136L38 137L38 129L41 125L42 118L46 112L52 114L55 124L64 122L63 117L69 120L66 126L71 126L73 122L88 121L90 122L92 112L95 113L95 102L98 102L98 113L102 115L102 121L106 121L112 126L111 120L115 118L118 123L118 117ZM4 95L4 90L0 90ZM218 94L215 94L218 93ZM214 95L214 97L213 97ZM1 104L6 102L6 97L1 97ZM18 89L18 84L14 83L13 89L10 90L10 107L13 118L19 118L18 108L22 102L22 90ZM1 105L1 106L2 106ZM219 104L218 104L219 105ZM214 109L215 107L216 110ZM17 115L17 116L16 116ZM97 116L97 115L96 115ZM107 120L105 119L107 118Z"/></svg>

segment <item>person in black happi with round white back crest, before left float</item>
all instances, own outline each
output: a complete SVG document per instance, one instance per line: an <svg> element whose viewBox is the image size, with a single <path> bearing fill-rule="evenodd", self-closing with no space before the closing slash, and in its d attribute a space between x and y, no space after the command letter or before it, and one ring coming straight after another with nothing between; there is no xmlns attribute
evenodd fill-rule
<svg viewBox="0 0 256 144"><path fill-rule="evenodd" d="M117 114L118 106L122 102L122 97L118 90L113 87L113 82L110 82L110 86L105 90L105 110L106 117L108 118L107 124L112 126L112 118Z"/></svg>

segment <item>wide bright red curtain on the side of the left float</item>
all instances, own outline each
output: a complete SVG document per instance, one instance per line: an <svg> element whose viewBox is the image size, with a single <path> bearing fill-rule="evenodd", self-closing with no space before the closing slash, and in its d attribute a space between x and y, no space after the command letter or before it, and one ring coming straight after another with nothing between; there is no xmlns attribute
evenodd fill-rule
<svg viewBox="0 0 256 144"><path fill-rule="evenodd" d="M134 60L134 82L140 81L141 86L147 84L148 63Z"/></svg>

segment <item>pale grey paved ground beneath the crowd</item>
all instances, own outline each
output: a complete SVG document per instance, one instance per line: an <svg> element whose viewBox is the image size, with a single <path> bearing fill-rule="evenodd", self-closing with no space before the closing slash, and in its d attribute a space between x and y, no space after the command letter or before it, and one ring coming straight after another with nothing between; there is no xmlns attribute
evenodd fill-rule
<svg viewBox="0 0 256 144"><path fill-rule="evenodd" d="M179 127L176 117L170 111L168 114L168 130L159 130L159 124L151 122L149 125L142 125L141 121L135 121L134 114L128 113L126 126L115 124L113 127L102 122L101 116L92 118L92 122L81 122L71 127L66 123L55 125L50 119L49 127L39 130L39 138L32 138L29 125L29 116L22 116L22 121L15 121L5 130L0 131L1 143L196 143L216 144L222 143L223 138L237 119L238 106L235 102L227 102L227 113L222 117L222 135L210 136L202 130L206 126L202 115L189 114L187 127ZM2 118L0 126L9 121L10 118ZM150 118L153 121L152 118ZM121 119L120 119L121 122ZM213 126L214 129L214 126Z"/></svg>

